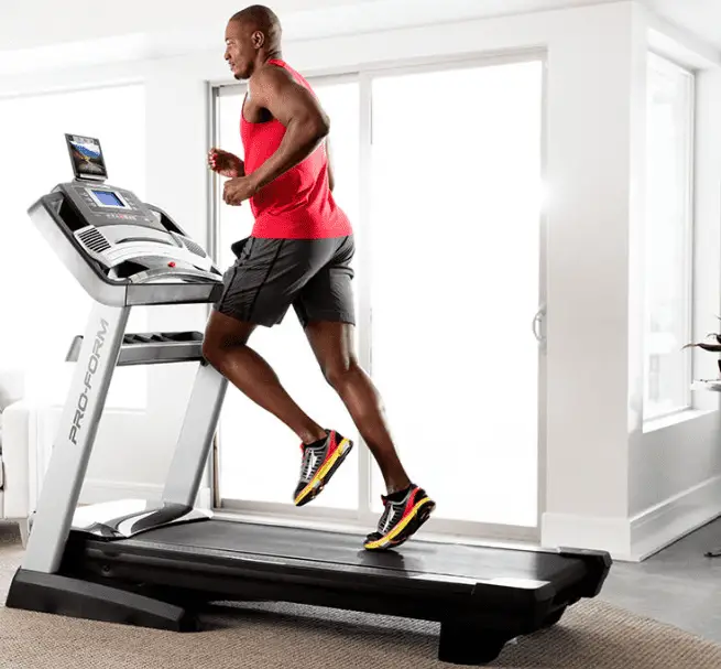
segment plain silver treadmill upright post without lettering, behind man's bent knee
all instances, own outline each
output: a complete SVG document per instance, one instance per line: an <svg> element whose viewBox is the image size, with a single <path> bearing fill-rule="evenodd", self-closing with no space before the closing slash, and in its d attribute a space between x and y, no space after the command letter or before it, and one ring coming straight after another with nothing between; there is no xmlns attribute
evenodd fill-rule
<svg viewBox="0 0 721 669"><path fill-rule="evenodd" d="M195 506L227 388L228 380L201 362L165 481L164 503Z"/></svg>

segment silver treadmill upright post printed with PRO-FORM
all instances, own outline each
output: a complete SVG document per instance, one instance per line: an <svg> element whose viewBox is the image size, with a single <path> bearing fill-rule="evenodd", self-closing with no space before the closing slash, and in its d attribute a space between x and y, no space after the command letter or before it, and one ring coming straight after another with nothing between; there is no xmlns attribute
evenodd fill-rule
<svg viewBox="0 0 721 669"><path fill-rule="evenodd" d="M96 302L61 417L23 570L57 572L77 507L130 306Z"/></svg>

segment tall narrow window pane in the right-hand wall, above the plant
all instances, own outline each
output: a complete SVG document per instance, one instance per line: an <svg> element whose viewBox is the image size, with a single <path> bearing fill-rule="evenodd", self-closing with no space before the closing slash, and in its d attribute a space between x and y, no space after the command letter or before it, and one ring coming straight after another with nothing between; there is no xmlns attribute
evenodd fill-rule
<svg viewBox="0 0 721 669"><path fill-rule="evenodd" d="M691 165L690 73L651 55L647 83L645 234L646 420L690 403Z"/></svg>

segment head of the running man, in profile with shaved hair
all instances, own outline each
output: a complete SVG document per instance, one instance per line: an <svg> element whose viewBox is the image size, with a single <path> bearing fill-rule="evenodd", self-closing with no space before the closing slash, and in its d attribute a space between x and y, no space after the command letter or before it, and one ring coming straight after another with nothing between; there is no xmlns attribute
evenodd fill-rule
<svg viewBox="0 0 721 669"><path fill-rule="evenodd" d="M230 18L225 58L237 79L249 79L258 65L280 54L281 22L273 10L253 4Z"/></svg>

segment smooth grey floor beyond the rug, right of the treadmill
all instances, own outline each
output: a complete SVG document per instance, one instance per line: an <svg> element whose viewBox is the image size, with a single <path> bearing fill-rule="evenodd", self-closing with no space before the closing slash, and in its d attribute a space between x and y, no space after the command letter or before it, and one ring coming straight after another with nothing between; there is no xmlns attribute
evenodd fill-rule
<svg viewBox="0 0 721 669"><path fill-rule="evenodd" d="M615 562L601 598L721 644L721 520L641 564Z"/></svg>

